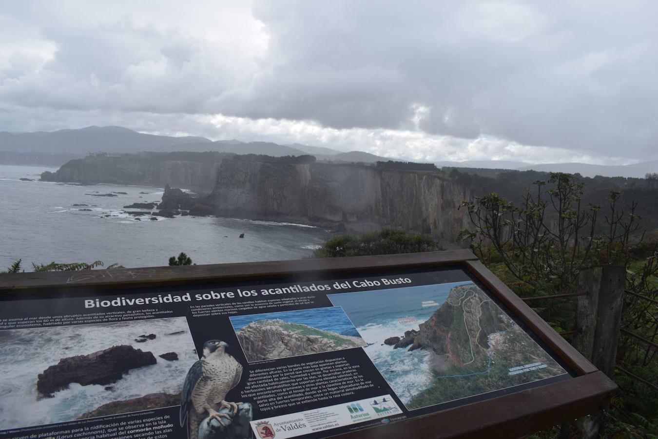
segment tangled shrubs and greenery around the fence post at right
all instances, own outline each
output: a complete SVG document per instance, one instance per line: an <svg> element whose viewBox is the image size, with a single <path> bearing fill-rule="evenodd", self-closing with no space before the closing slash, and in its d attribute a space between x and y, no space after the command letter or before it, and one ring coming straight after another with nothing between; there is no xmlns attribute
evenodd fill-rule
<svg viewBox="0 0 658 439"><path fill-rule="evenodd" d="M620 335L617 365L645 382L657 382L657 351L641 340L654 343L658 334L658 242L644 241L638 203L613 190L605 206L587 204L577 175L550 176L522 192L521 203L493 192L463 203L472 225L461 238L520 297L579 292L582 270L626 267L626 290L633 295L624 295L622 328L641 339ZM530 305L558 332L576 329L576 300L534 300ZM658 437L658 392L621 369L614 378L620 390L611 409L603 411L600 434ZM569 428L574 432L578 427ZM569 437L555 429L536 437L556 434Z"/></svg>

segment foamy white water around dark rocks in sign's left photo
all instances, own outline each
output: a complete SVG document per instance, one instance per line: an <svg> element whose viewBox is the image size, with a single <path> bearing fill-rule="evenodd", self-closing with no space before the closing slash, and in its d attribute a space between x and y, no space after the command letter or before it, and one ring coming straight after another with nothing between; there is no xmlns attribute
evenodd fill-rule
<svg viewBox="0 0 658 439"><path fill-rule="evenodd" d="M142 334L155 334L156 338L136 342ZM152 352L157 363L132 369L113 384L72 383L53 398L38 394L39 373L61 357L126 344ZM168 352L176 352L178 360L159 357ZM0 331L0 428L72 421L111 401L159 392L177 394L198 359L185 317Z"/></svg>

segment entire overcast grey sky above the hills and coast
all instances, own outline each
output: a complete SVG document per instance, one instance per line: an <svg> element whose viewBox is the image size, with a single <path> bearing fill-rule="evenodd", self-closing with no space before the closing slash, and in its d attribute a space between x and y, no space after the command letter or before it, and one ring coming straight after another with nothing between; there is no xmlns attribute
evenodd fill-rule
<svg viewBox="0 0 658 439"><path fill-rule="evenodd" d="M0 130L658 159L658 2L5 1Z"/></svg>

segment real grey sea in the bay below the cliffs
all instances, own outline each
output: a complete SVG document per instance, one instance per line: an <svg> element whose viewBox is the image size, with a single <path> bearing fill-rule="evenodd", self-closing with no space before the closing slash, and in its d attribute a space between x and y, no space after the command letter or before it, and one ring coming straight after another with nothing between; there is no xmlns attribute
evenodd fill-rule
<svg viewBox="0 0 658 439"><path fill-rule="evenodd" d="M123 206L159 202L163 188L40 182L44 170L57 168L0 165L0 271L17 259L27 271L32 263L52 261L155 267L181 251L197 264L301 259L333 236L322 228L257 220L138 220ZM118 196L93 196L112 193Z"/></svg>

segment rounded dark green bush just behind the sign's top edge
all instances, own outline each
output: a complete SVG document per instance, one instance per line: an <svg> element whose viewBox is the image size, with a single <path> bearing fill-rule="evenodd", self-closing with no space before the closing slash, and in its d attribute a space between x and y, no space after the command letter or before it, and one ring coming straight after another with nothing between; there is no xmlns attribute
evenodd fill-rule
<svg viewBox="0 0 658 439"><path fill-rule="evenodd" d="M361 236L341 235L322 244L313 253L315 257L343 257L366 255L393 255L419 251L442 250L432 237L415 235L402 230L384 229Z"/></svg>

